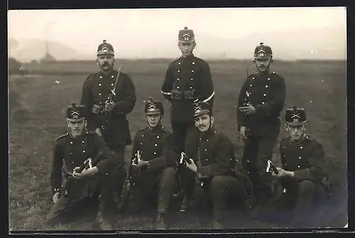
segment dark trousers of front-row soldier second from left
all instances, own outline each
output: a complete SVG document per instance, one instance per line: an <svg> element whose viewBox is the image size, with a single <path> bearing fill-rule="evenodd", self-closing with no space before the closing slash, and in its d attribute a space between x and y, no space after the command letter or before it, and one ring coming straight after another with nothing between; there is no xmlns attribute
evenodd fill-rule
<svg viewBox="0 0 355 238"><path fill-rule="evenodd" d="M131 190L128 213L138 214L152 207L165 213L175 190L175 170L168 167L160 173L141 171Z"/></svg>

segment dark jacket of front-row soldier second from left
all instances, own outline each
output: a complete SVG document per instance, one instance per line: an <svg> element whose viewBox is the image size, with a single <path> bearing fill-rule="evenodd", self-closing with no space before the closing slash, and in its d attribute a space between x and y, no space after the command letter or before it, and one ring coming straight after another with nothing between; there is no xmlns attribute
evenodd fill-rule
<svg viewBox="0 0 355 238"><path fill-rule="evenodd" d="M141 160L149 161L149 171L163 171L175 166L178 160L173 134L163 126L157 126L152 131L147 126L137 131L133 139L132 160L138 150L141 151Z"/></svg>

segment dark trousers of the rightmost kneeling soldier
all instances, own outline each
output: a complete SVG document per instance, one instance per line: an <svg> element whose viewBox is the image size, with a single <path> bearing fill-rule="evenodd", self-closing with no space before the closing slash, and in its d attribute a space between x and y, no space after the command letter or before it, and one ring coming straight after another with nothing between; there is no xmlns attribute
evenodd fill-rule
<svg viewBox="0 0 355 238"><path fill-rule="evenodd" d="M271 207L275 217L283 217L283 222L291 222L294 227L312 227L320 216L326 193L322 185L310 180L302 180L285 189L273 200ZM280 215L282 214L282 215Z"/></svg>

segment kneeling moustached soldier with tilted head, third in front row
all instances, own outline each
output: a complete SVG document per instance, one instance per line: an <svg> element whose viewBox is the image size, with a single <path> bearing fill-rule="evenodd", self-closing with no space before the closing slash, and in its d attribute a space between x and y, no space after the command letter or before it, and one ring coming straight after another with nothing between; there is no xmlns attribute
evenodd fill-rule
<svg viewBox="0 0 355 238"><path fill-rule="evenodd" d="M196 189L193 207L201 218L206 215L206 210L213 207L213 228L222 229L226 212L232 206L238 207L239 212L246 211L252 184L236 159L230 139L215 128L207 102L196 105L194 118L200 131L197 165L190 158L191 163L185 163L185 166L197 174L202 190Z"/></svg>

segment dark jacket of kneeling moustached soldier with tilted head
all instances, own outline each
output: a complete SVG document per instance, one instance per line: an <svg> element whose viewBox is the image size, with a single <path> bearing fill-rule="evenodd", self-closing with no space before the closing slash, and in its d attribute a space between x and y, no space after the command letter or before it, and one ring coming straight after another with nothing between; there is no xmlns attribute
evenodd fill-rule
<svg viewBox="0 0 355 238"><path fill-rule="evenodd" d="M234 152L233 144L222 132L214 127L206 131L200 137L197 178L209 180L217 175L245 174L245 169Z"/></svg>

